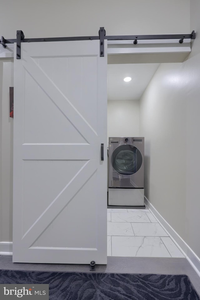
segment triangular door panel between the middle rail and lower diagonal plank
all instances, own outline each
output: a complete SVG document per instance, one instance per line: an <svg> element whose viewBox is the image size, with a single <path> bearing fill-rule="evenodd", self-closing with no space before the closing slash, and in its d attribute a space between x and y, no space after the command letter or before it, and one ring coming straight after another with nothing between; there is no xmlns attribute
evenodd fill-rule
<svg viewBox="0 0 200 300"><path fill-rule="evenodd" d="M82 166L81 161L39 160L36 163L31 160L24 162L23 236L47 207L52 205L54 199L70 183ZM49 182L56 182L56 186L50 185ZM58 203L60 198L56 201Z"/></svg>

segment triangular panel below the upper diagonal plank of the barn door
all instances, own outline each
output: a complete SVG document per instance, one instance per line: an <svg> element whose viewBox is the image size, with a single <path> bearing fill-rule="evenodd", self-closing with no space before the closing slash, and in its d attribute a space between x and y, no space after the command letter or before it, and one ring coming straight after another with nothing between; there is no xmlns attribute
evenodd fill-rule
<svg viewBox="0 0 200 300"><path fill-rule="evenodd" d="M87 143L63 114L62 109L53 103L27 72L25 77L24 142Z"/></svg>

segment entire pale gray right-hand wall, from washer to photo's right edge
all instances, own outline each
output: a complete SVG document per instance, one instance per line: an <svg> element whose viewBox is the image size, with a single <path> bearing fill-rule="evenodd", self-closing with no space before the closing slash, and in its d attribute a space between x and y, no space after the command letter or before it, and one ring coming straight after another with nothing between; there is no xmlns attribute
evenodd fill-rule
<svg viewBox="0 0 200 300"><path fill-rule="evenodd" d="M190 31L200 30L191 0ZM145 195L200 257L200 38L184 63L162 64L140 100L145 136Z"/></svg>

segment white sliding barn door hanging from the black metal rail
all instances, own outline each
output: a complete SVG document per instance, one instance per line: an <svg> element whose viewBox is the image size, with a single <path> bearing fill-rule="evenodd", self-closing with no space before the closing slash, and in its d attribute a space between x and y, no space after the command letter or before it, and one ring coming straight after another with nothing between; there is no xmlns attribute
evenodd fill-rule
<svg viewBox="0 0 200 300"><path fill-rule="evenodd" d="M13 262L107 263L106 40L104 57L99 47L22 42L14 60Z"/></svg>

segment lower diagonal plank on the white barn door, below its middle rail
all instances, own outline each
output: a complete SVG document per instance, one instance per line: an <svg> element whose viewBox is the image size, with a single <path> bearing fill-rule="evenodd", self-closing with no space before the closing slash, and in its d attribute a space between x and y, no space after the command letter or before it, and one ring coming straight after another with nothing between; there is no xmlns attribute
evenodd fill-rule
<svg viewBox="0 0 200 300"><path fill-rule="evenodd" d="M95 160L87 161L71 181L63 188L58 196L46 208L22 237L23 247L31 247L49 224L59 215L64 207L79 192L88 179L97 170Z"/></svg>

